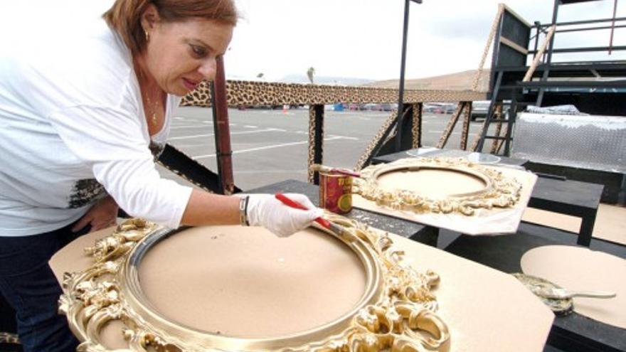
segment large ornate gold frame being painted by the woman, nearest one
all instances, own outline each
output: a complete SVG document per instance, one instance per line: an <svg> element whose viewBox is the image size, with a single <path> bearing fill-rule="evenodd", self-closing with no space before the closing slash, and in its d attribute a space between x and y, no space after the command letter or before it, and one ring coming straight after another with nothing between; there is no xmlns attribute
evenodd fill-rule
<svg viewBox="0 0 626 352"><path fill-rule="evenodd" d="M280 338L233 338L169 321L139 289L137 265L152 245L176 231L141 219L127 220L85 249L94 263L83 272L65 273L60 311L83 341L78 350L88 352L108 351L101 331L110 321L125 326L124 351L447 351L450 333L435 313L431 292L437 274L410 267L387 233L340 215L327 218L349 235L317 229L339 238L361 259L366 291L354 309L324 326Z"/></svg>

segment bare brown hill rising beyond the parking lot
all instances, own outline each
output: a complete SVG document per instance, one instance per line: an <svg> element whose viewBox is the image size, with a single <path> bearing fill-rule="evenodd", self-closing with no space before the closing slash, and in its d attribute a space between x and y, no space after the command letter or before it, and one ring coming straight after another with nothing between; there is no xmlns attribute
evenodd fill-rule
<svg viewBox="0 0 626 352"><path fill-rule="evenodd" d="M476 70L467 70L447 75L416 78L404 81L405 89L415 90L471 90ZM366 87L398 88L400 80L378 80L364 84ZM482 70L478 90L489 90L489 69Z"/></svg>

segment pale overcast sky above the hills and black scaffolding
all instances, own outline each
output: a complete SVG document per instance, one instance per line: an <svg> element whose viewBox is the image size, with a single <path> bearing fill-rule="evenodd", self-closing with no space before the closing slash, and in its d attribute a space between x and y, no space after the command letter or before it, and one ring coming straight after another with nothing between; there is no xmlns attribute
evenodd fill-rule
<svg viewBox="0 0 626 352"><path fill-rule="evenodd" d="M478 68L499 2L526 21L548 23L552 0L423 0L410 3L407 79ZM19 4L17 4L19 3ZM53 4L53 5L52 5ZM38 18L57 14L58 26L102 13L112 0L2 1L0 21L18 21L22 31L39 30ZM228 78L280 80L306 75L398 79L402 45L402 0L235 0L240 21L225 56ZM54 6L54 8L52 8ZM561 6L558 21L610 18L613 0ZM625 1L617 17L626 16ZM45 29L44 29L45 30ZM608 46L609 31L559 34L556 47ZM626 28L615 30L614 45L626 45ZM606 54L580 58L624 60ZM559 60L558 56L555 60ZM489 59L486 67L489 67Z"/></svg>

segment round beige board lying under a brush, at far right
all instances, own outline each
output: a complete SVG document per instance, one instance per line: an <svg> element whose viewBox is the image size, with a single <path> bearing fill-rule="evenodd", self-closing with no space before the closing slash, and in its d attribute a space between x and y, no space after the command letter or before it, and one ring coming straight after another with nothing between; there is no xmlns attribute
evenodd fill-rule
<svg viewBox="0 0 626 352"><path fill-rule="evenodd" d="M611 299L574 297L574 311L626 329L626 260L588 248L548 245L524 253L521 270L568 290L615 292Z"/></svg>

